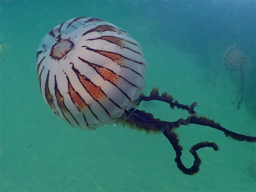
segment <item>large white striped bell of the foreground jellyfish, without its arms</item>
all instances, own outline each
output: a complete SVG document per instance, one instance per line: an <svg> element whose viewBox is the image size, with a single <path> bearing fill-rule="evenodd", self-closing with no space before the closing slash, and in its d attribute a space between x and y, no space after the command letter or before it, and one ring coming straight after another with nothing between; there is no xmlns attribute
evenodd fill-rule
<svg viewBox="0 0 256 192"><path fill-rule="evenodd" d="M37 52L45 102L74 127L112 125L135 108L145 88L147 61L123 29L91 17L70 19L51 30Z"/></svg>

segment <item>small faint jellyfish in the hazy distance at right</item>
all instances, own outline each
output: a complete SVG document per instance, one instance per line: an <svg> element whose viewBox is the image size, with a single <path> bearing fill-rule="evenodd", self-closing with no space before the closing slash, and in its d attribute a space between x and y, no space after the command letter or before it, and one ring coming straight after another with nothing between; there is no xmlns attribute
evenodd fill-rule
<svg viewBox="0 0 256 192"><path fill-rule="evenodd" d="M246 51L242 47L230 47L223 55L222 62L225 69L229 71L239 71L239 91L236 97L238 110L244 99L244 68L248 66L248 57Z"/></svg>

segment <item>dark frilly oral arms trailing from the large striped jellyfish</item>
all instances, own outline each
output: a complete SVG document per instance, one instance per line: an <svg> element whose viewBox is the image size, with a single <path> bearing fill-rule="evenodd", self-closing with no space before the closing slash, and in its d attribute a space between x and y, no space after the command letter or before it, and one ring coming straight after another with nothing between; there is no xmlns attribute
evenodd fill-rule
<svg viewBox="0 0 256 192"><path fill-rule="evenodd" d="M190 106L188 105L182 105L177 100L173 102L173 98L171 95L168 95L167 92L163 93L162 95L159 95L158 88L153 88L149 96L145 96L144 94L140 95L139 101L137 103L137 107L139 107L139 104L141 101L152 101L152 100L158 100L165 103L168 103L170 105L170 108L177 107L178 109L187 110L189 113L189 116L187 119L178 119L175 122L166 122L161 121L161 119L155 119L154 115L151 113L146 113L145 111L140 111L139 109L131 109L133 111L132 115L130 110L125 110L124 114L120 117L119 121L122 121L124 125L127 125L129 127L133 127L138 130L145 130L148 131L154 131L158 133L163 133L164 136L170 141L173 149L176 152L175 162L177 163L177 167L185 174L193 175L199 171L199 166L201 164L201 159L197 155L197 150L204 148L204 147L211 147L215 151L219 150L218 146L214 142L199 142L195 144L191 149L189 150L190 153L194 156L194 163L190 168L187 168L183 165L181 161L181 154L182 154L182 146L179 145L179 139L177 138L177 134L175 133L175 130L180 127L180 125L189 125L189 124L197 124L197 125L203 125L212 127L214 129L218 129L222 131L226 137L231 137L238 141L247 141L247 142L255 142L256 137L246 136L242 134L238 134L232 131L229 131L222 127L219 123L215 123L213 120L210 120L206 117L198 117L196 115L196 112L194 111L194 107L197 105L196 102L193 102Z"/></svg>

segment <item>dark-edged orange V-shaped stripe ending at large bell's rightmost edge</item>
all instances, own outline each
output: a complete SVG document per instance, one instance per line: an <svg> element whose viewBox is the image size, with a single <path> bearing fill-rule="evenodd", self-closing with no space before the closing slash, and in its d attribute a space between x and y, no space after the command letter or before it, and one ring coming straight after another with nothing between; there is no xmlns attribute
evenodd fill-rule
<svg viewBox="0 0 256 192"><path fill-rule="evenodd" d="M127 57L124 57L123 55L120 55L120 54L118 54L118 53L113 53L113 52L110 52L110 51L101 51L101 50L97 50L97 49L91 49L91 48L89 48L89 47L87 47L87 46L85 46L85 45L83 45L82 47L86 47L87 50L93 51L93 52L95 52L95 53L99 53L99 54L101 54L101 55L103 55L103 56L105 56L105 57L107 57L107 58L109 58L109 59L111 59L111 60L113 60L113 61L116 61L116 60L123 61L123 59L127 59L127 60L130 60L130 61L133 61L133 62L135 62L135 63L138 63L138 64L140 64L140 65L145 66L145 64L142 63L142 62L134 61L134 60L129 59L129 58L127 58ZM141 74L138 73L137 71L135 71L135 70L133 70L133 69L131 69L131 68L129 68L129 67L123 66L123 65L122 65L122 62L116 62L116 63L117 63L117 65L120 65L121 67L125 67L125 68L127 68L127 69L130 69L130 70L133 71L134 73L136 73L136 74L138 74L139 76L141 76ZM141 76L141 77L142 77L142 76Z"/></svg>

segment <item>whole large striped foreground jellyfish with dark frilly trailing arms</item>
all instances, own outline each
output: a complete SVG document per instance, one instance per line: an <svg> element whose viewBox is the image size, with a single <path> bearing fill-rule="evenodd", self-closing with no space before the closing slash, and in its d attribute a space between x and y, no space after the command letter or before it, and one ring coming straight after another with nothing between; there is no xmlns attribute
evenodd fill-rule
<svg viewBox="0 0 256 192"><path fill-rule="evenodd" d="M222 131L239 141L255 142L256 137L229 131L219 123L197 116L196 102L182 105L166 92L153 88L142 94L148 67L141 46L125 30L101 19L78 17L53 28L37 50L39 87L46 104L68 125L93 131L103 125L123 125L147 132L163 133L176 152L177 167L185 174L199 171L197 150L218 146L199 142L190 149L194 163L181 161L182 146L175 130L180 125L197 124ZM139 110L142 101L158 100L188 111L186 119L166 122Z"/></svg>

